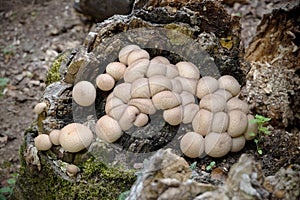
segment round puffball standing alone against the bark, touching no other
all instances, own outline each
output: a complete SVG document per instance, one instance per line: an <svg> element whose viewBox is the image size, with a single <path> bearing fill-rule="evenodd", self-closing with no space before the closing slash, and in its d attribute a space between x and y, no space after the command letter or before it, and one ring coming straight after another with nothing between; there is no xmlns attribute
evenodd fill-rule
<svg viewBox="0 0 300 200"><path fill-rule="evenodd" d="M92 83L80 81L74 86L72 97L78 105L90 106L95 102L96 89Z"/></svg>

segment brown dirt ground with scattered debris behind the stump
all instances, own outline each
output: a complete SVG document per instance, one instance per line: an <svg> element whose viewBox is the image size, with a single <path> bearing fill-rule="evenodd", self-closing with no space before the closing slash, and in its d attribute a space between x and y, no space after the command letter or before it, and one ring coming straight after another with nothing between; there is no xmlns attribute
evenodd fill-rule
<svg viewBox="0 0 300 200"><path fill-rule="evenodd" d="M249 0L227 6L230 14L241 17L243 46L248 46L263 14L280 3ZM45 89L51 62L80 45L91 28L72 6L71 0L0 0L0 80L9 79L0 86L0 188L18 172L24 129L36 117L32 109Z"/></svg>

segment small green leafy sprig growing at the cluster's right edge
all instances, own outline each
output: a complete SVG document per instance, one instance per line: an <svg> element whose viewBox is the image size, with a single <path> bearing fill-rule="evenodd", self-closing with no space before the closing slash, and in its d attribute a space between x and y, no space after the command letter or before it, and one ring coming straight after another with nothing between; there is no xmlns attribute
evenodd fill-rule
<svg viewBox="0 0 300 200"><path fill-rule="evenodd" d="M269 135L270 131L267 127L264 126L264 124L268 121L270 121L271 118L264 117L262 115L255 115L255 119L250 120L250 123L255 124L257 123L258 131L257 134L250 133L250 136L255 136L254 142L256 144L256 149L258 154L262 155L262 149L260 147L260 141L263 135Z"/></svg>

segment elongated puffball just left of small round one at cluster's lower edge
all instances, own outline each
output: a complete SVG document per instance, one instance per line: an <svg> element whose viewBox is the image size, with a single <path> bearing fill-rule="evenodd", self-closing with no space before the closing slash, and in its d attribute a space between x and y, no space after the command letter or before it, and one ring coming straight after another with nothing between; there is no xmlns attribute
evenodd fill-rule
<svg viewBox="0 0 300 200"><path fill-rule="evenodd" d="M128 106L119 120L121 129L123 131L129 130L133 126L133 122L136 120L138 114L140 114L139 109L135 106Z"/></svg>

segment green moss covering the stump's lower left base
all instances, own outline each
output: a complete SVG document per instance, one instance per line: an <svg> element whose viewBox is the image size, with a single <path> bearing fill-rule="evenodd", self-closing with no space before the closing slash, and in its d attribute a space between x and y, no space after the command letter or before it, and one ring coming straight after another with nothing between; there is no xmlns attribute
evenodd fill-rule
<svg viewBox="0 0 300 200"><path fill-rule="evenodd" d="M27 165L23 156L36 134L33 132L26 133L20 150L20 175L11 199L117 199L136 179L134 171L108 167L95 157L78 165L81 169L78 180L66 178L43 152L39 152L42 169L38 171L35 166Z"/></svg>

